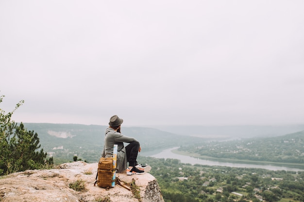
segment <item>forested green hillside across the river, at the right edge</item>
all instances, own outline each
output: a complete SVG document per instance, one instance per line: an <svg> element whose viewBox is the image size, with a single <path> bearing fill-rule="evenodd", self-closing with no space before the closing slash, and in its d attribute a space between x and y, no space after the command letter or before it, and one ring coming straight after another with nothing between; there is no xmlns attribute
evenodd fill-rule
<svg viewBox="0 0 304 202"><path fill-rule="evenodd" d="M304 131L271 138L206 141L179 148L201 157L304 163Z"/></svg>

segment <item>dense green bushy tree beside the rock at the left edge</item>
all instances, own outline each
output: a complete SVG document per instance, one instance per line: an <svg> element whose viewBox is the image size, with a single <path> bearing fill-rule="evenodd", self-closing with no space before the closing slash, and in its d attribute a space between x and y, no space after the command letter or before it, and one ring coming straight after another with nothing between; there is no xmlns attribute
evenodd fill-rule
<svg viewBox="0 0 304 202"><path fill-rule="evenodd" d="M0 103L4 95L0 96ZM39 169L45 164L52 164L52 158L45 161L47 153L40 148L38 134L28 131L24 125L11 120L16 109L24 103L21 100L9 113L0 109L0 175L27 169Z"/></svg>

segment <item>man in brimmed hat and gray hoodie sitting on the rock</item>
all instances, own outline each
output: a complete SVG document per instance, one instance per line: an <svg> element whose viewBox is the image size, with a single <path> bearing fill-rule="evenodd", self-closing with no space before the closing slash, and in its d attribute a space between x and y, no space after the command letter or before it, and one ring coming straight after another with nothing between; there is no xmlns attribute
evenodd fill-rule
<svg viewBox="0 0 304 202"><path fill-rule="evenodd" d="M110 118L109 127L105 130L104 146L102 150L102 157L113 156L114 144L118 145L117 152L117 166L118 172L123 172L127 170L127 174L141 174L143 172L148 172L151 170L150 166L138 165L136 159L138 152L141 151L139 142L132 137L124 136L120 133L120 125L123 120L117 115ZM123 142L129 143L124 147ZM129 167L127 168L127 162L129 162Z"/></svg>

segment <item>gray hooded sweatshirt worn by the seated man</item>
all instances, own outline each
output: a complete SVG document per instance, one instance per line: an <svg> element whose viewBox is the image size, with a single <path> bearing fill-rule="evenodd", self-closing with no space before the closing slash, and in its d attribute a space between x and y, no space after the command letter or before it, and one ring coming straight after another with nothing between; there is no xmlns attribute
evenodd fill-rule
<svg viewBox="0 0 304 202"><path fill-rule="evenodd" d="M131 143L136 141L135 138L124 136L121 133L115 132L113 128L105 129L104 146L102 150L102 157L111 157L113 155L114 144L118 145L117 152L117 166L118 172L123 172L127 168L127 154L123 142Z"/></svg>

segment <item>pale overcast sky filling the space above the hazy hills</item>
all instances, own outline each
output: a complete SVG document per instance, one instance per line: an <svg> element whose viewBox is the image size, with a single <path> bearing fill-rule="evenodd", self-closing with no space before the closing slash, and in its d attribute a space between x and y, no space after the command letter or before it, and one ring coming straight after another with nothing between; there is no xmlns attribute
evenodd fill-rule
<svg viewBox="0 0 304 202"><path fill-rule="evenodd" d="M304 124L303 0L0 0L23 123Z"/></svg>

